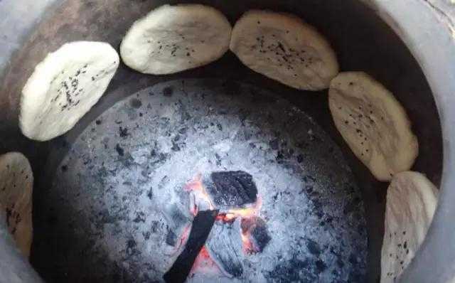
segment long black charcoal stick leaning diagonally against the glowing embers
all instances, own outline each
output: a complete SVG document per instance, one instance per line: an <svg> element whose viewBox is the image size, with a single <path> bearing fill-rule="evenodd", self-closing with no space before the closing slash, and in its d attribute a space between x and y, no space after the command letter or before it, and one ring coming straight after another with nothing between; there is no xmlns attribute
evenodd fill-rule
<svg viewBox="0 0 455 283"><path fill-rule="evenodd" d="M164 281L172 283L183 283L186 281L186 277L188 277L191 267L193 267L194 260L198 257L200 249L202 249L210 234L210 230L212 230L216 215L218 215L218 210L198 212L193 220L185 249L178 255L177 260L173 263L171 269L164 274Z"/></svg>

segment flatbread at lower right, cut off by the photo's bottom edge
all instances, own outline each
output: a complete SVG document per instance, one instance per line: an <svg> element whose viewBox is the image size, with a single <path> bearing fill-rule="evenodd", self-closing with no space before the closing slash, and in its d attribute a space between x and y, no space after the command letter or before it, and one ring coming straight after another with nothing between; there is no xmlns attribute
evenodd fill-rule
<svg viewBox="0 0 455 283"><path fill-rule="evenodd" d="M421 173L397 173L387 191L381 282L395 282L419 250L437 207L437 188Z"/></svg>

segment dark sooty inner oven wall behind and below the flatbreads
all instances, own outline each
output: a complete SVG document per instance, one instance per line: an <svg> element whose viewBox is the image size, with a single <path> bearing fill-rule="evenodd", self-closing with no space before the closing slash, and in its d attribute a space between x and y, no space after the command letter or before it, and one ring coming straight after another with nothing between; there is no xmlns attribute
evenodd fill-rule
<svg viewBox="0 0 455 283"><path fill-rule="evenodd" d="M276 92L304 110L326 130L344 151L344 156L353 169L358 185L363 189L368 221L368 274L375 281L379 274L380 245L383 230L383 211L386 183L378 183L346 147L333 126L328 112L327 93L304 92L284 87L277 82L258 75L242 66L232 53L226 54L215 63L203 68L188 70L168 76L141 75L121 65L107 93L100 102L68 134L45 143L34 143L18 132L17 116L21 87L33 71L34 66L46 53L55 50L67 41L107 41L118 48L127 28L150 9L165 3L188 1L125 1L125 0L68 0L62 1L48 11L30 39L16 53L11 68L1 85L0 97L9 101L2 109L0 118L4 122L0 131L0 152L23 151L31 158L36 174L34 194L34 221L39 227L43 218L41 207L45 200L39 191L50 185L60 164L61 156L69 145L92 122L95 117L127 95L165 80L179 78L223 78L227 82L241 81ZM419 65L409 50L373 11L354 0L306 0L306 1L198 1L223 11L231 23L247 9L272 9L288 11L304 18L316 26L336 50L341 70L364 70L387 88L405 106L419 138L420 154L414 170L426 173L439 186L441 178L441 129L431 90ZM4 105L4 104L3 104ZM4 107L4 106L2 106ZM4 107L4 108L5 108ZM39 228L36 235L45 235ZM34 262L35 255L31 261Z"/></svg>

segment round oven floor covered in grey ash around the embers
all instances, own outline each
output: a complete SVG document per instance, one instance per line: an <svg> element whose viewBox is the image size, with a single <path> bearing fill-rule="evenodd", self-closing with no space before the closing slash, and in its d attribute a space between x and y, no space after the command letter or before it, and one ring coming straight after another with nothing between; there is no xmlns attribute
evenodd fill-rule
<svg viewBox="0 0 455 283"><path fill-rule="evenodd" d="M338 146L289 102L223 80L163 82L97 117L41 192L33 265L48 282L161 282L181 249L169 235L191 225L185 184L237 170L271 239L237 256L240 275L188 282L365 282L363 201Z"/></svg>

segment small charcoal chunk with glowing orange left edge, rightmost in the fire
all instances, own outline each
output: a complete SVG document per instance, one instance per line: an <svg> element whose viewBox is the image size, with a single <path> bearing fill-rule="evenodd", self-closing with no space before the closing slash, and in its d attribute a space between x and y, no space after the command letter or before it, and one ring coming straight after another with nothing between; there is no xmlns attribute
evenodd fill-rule
<svg viewBox="0 0 455 283"><path fill-rule="evenodd" d="M247 251L262 252L270 241L264 220L256 216L242 218L241 226Z"/></svg>

